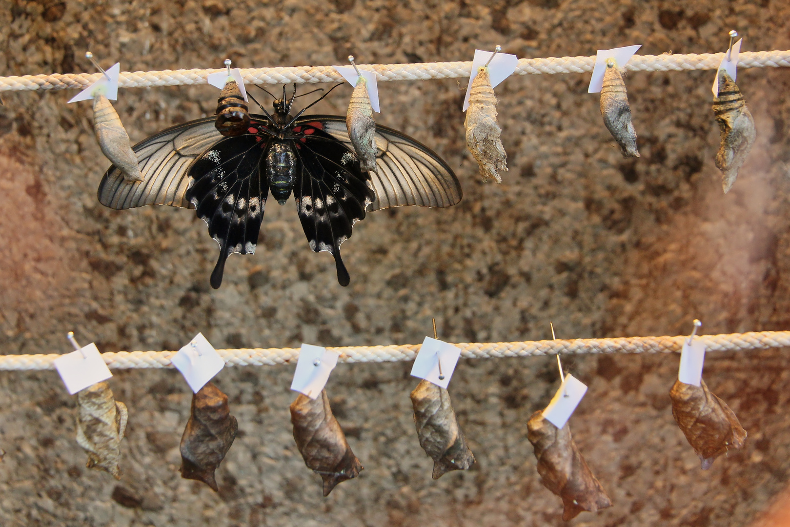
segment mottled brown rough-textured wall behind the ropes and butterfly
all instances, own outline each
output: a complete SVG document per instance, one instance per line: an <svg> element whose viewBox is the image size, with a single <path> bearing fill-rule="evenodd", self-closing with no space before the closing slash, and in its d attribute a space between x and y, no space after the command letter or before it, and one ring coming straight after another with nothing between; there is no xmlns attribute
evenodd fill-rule
<svg viewBox="0 0 790 527"><path fill-rule="evenodd" d="M468 60L475 47L524 56L790 48L780 0L629 2L24 2L0 0L0 74ZM6 93L0 107L0 352L66 352L69 329L102 351L177 349L198 331L217 347L447 341L790 329L790 70L743 70L758 140L720 190L711 72L626 77L641 159L623 161L589 75L511 77L497 88L510 171L483 184L464 156L465 82L380 85L378 122L436 149L464 188L446 210L372 213L343 247L307 247L292 201L270 201L258 254L230 258L209 288L216 243L194 212L112 211L96 201L107 160L74 92ZM256 92L257 88L253 88ZM343 115L351 89L316 107ZM264 97L265 98L265 97ZM211 114L208 86L122 90L133 141ZM705 378L749 432L702 472L667 393L676 356L566 359L590 390L574 437L614 506L574 525L745 525L790 470L788 351L710 356ZM366 469L328 499L295 450L293 367L228 368L217 380L241 431L220 493L181 480L190 393L175 371L111 380L130 409L126 472L88 471L74 401L53 372L0 374L0 525L564 525L541 484L526 421L557 386L551 358L461 361L453 402L478 465L431 480L408 392L410 365L341 365L333 408ZM111 496L114 496L111 497Z"/></svg>

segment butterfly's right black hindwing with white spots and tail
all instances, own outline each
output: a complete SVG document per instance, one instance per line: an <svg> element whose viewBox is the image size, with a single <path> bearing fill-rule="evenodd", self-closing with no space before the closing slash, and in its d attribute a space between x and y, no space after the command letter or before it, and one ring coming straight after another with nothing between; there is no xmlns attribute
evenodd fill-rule
<svg viewBox="0 0 790 527"><path fill-rule="evenodd" d="M332 254L337 280L348 285L340 244L351 237L354 223L365 217L375 199L370 177L348 146L324 132L323 122L303 121L292 131L300 165L294 185L299 220L310 249Z"/></svg>

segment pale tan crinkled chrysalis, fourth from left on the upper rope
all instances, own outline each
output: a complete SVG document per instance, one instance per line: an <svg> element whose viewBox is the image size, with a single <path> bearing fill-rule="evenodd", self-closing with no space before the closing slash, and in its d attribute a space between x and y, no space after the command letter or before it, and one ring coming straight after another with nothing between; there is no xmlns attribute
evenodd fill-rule
<svg viewBox="0 0 790 527"><path fill-rule="evenodd" d="M472 152L483 181L488 178L502 183L499 171L507 170L507 154L499 141L502 130L496 122L496 97L488 78L488 68L477 70L472 88L469 90L469 107L466 110L466 148Z"/></svg>

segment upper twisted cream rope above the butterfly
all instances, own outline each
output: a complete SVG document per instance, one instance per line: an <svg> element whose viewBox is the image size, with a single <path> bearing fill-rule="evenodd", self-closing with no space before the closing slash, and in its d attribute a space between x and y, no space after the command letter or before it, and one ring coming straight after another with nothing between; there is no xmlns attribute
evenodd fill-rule
<svg viewBox="0 0 790 527"><path fill-rule="evenodd" d="M724 53L702 55L634 55L626 64L631 71L680 71L716 70ZM521 58L515 74L585 73L592 71L595 56ZM423 62L418 64L369 64L358 65L362 70L374 71L379 81L425 81L469 77L472 62ZM790 66L788 51L743 51L739 55L739 68ZM152 86L205 85L209 73L223 70L164 70L123 71L119 77L121 88L149 88ZM342 81L340 73L332 66L294 66L290 68L243 69L246 84L314 84ZM82 89L97 81L101 73L54 73L52 75L23 75L0 77L0 92L30 90Z"/></svg>

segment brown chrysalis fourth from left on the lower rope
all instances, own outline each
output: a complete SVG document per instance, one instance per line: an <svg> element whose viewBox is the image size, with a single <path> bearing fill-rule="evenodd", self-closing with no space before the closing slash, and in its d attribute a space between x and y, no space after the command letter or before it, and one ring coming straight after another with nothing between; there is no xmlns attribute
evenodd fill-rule
<svg viewBox="0 0 790 527"><path fill-rule="evenodd" d="M466 470L475 462L458 424L450 393L433 382L422 380L412 391L414 424L419 446L434 460L434 480L451 470Z"/></svg>

